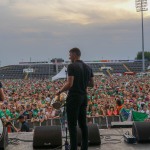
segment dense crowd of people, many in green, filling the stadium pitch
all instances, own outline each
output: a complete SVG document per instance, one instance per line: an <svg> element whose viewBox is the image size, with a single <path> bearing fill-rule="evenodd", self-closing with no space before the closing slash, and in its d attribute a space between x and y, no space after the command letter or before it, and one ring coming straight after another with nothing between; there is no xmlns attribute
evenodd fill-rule
<svg viewBox="0 0 150 150"><path fill-rule="evenodd" d="M3 80L5 99L0 118L6 122L20 115L32 122L43 122L62 115L52 101L65 80ZM148 76L95 76L88 88L87 118L119 115L122 108L150 115L150 79Z"/></svg>

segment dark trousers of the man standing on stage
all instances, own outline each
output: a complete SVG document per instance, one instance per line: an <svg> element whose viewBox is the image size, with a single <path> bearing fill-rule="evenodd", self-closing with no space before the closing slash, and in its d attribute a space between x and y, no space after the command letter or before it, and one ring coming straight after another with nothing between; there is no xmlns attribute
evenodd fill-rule
<svg viewBox="0 0 150 150"><path fill-rule="evenodd" d="M81 150L88 149L88 128L86 123L87 95L69 94L66 101L67 121L70 134L70 150L77 150L77 122L81 128Z"/></svg>

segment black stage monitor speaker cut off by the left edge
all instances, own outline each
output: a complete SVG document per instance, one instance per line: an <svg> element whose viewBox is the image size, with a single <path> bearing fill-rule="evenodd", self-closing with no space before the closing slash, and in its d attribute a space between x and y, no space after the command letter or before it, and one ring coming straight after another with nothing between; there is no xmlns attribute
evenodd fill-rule
<svg viewBox="0 0 150 150"><path fill-rule="evenodd" d="M8 145L8 132L7 128L3 126L0 119L0 150L5 150Z"/></svg>

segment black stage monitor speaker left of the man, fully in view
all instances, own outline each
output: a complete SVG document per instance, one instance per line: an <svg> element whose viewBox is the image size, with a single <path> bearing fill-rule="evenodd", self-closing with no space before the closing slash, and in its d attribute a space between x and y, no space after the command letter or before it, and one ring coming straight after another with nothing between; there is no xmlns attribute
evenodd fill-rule
<svg viewBox="0 0 150 150"><path fill-rule="evenodd" d="M57 148L62 146L61 126L36 127L33 134L33 148Z"/></svg>

